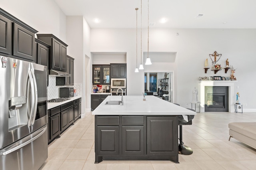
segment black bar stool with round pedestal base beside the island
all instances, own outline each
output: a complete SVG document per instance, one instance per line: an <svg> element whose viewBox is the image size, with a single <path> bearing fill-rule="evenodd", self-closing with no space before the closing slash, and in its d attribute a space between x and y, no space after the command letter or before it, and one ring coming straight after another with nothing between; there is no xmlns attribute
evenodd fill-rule
<svg viewBox="0 0 256 170"><path fill-rule="evenodd" d="M194 111L194 109L189 109L191 111ZM193 153L193 150L184 145L184 142L182 142L182 126L183 125L192 125L192 119L194 119L195 115L186 115L188 117L188 121L184 119L182 115L179 115L178 117L178 125L180 128L180 143L179 143L179 154L184 154L184 155L190 155Z"/></svg>

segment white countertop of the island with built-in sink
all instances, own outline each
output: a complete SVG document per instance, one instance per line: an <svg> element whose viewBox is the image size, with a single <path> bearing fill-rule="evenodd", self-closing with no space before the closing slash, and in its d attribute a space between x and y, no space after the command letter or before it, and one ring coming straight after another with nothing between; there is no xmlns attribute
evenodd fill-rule
<svg viewBox="0 0 256 170"><path fill-rule="evenodd" d="M155 96L124 96L124 105L105 105L107 101L121 101L121 96L108 96L94 109L92 115L196 115L190 111Z"/></svg>

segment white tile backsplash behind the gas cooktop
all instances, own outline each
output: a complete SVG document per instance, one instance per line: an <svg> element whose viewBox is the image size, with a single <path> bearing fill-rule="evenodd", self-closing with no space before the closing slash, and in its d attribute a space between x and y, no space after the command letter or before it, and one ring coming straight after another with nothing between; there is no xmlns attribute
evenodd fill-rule
<svg viewBox="0 0 256 170"><path fill-rule="evenodd" d="M68 86L56 86L56 77L49 76L49 85L47 87L47 100L56 99L60 96L60 87L74 87L76 89L76 95L82 95L82 84L81 83L74 83L74 85Z"/></svg>

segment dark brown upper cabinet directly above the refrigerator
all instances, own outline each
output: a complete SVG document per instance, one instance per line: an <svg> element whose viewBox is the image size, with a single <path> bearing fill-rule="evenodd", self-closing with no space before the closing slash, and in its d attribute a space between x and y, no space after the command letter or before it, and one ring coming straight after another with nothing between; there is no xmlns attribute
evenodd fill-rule
<svg viewBox="0 0 256 170"><path fill-rule="evenodd" d="M0 53L26 61L36 61L34 28L0 8Z"/></svg>

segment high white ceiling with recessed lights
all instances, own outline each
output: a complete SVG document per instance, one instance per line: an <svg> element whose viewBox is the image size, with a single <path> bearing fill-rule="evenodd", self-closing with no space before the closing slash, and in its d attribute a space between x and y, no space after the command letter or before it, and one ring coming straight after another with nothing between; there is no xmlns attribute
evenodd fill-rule
<svg viewBox="0 0 256 170"><path fill-rule="evenodd" d="M66 16L84 16L90 28L136 28L139 8L140 28L140 0L55 2ZM166 23L160 23L162 18ZM149 22L155 23L150 28L256 28L256 0L149 0ZM142 0L142 27L147 24L148 1Z"/></svg>

